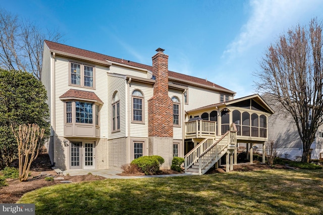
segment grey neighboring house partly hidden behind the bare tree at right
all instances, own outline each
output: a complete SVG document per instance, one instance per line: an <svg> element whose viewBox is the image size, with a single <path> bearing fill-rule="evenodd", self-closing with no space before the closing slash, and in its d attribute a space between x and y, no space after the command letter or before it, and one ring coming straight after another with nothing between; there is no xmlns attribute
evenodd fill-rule
<svg viewBox="0 0 323 215"><path fill-rule="evenodd" d="M282 107L272 95L265 94L262 98L276 112L268 118L268 127L270 127L270 129L268 129L268 140L274 140L276 142L277 155L281 158L290 160L300 160L303 154L303 144L293 117L291 114L278 111ZM309 119L310 118L311 117L309 117ZM310 146L310 159L322 159L323 125L319 126L315 136L315 140Z"/></svg>

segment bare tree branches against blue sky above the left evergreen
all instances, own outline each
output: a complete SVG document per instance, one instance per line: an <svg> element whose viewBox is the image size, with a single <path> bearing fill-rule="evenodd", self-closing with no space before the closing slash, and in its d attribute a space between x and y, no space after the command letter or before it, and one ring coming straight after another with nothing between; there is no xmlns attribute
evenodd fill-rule
<svg viewBox="0 0 323 215"><path fill-rule="evenodd" d="M43 32L34 23L0 9L0 66L4 69L28 71L40 80L43 41L61 38L56 31Z"/></svg>

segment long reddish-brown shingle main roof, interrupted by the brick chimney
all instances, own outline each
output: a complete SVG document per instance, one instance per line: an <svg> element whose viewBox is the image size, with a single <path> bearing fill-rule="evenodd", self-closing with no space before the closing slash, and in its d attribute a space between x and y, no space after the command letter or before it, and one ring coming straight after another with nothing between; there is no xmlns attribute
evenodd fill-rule
<svg viewBox="0 0 323 215"><path fill-rule="evenodd" d="M132 62L130 60L125 60L125 59L121 59L121 58L117 58L117 57L112 57L109 55L99 54L99 53L96 53L93 51L87 51L84 49L75 48L72 46L68 46L68 45L64 45L64 44L60 44L60 43L56 43L56 42L51 42L48 40L45 40L45 43L51 51L61 51L61 52L74 54L74 55L78 55L78 56L82 56L82 57L87 57L87 58L91 58L91 59L95 59L95 60L101 60L101 61L110 60L113 62L122 63L125 65L131 65L131 66L144 68L144 69L148 69L148 70L152 71L152 66L137 63L137 62ZM184 82L189 81L189 82L193 82L196 84L202 84L202 85L206 85L209 87L216 87L219 89L230 91L224 87L221 87L220 85L206 81L205 79L200 79L200 78L196 78L193 76L188 76L188 75L176 73L175 71L169 71L169 77L175 78L175 79L180 79L180 80L183 80Z"/></svg>

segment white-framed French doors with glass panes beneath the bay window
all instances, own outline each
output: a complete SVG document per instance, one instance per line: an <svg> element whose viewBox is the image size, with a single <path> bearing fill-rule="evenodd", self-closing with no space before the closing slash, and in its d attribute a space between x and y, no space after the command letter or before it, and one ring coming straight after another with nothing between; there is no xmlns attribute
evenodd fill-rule
<svg viewBox="0 0 323 215"><path fill-rule="evenodd" d="M70 168L94 169L95 168L95 142L71 142Z"/></svg>

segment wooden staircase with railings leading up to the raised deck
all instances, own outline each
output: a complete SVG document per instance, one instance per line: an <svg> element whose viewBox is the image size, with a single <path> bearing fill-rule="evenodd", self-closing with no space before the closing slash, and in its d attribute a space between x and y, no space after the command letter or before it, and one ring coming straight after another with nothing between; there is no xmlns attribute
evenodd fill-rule
<svg viewBox="0 0 323 215"><path fill-rule="evenodd" d="M205 138L193 150L185 155L185 172L203 175L226 154L228 171L229 155L236 152L236 149L237 128L235 124L232 123L230 125L230 130L220 138Z"/></svg>

